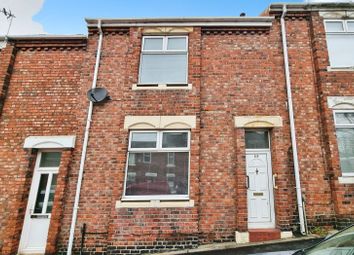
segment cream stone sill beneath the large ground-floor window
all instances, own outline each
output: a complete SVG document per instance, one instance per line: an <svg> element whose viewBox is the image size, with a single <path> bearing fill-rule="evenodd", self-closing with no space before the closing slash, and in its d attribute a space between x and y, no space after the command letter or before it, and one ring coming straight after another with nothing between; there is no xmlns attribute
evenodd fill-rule
<svg viewBox="0 0 354 255"><path fill-rule="evenodd" d="M177 208L177 207L193 207L194 200L181 200L181 201L163 201L163 200L150 200L150 201L121 201L116 202L116 209L119 208Z"/></svg>

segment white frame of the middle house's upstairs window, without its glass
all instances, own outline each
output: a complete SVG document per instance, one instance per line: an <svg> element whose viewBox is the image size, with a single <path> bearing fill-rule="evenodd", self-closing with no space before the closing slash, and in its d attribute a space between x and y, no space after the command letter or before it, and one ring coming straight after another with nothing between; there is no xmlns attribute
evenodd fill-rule
<svg viewBox="0 0 354 255"><path fill-rule="evenodd" d="M151 38L162 38L162 50L144 50L145 47L145 39L151 39ZM185 50L168 50L167 49L167 43L169 38L185 38L186 39L186 47ZM139 64L139 85L166 85L166 84L161 84L161 83L143 83L141 82L141 72L142 72L142 63L143 63L143 55L186 55L187 57L187 62L186 62L186 78L183 82L168 82L168 85L181 85L181 84L188 84L188 59L189 59L189 50L188 50L188 36L187 35L173 35L173 36L143 36L142 38L142 45L141 45L141 54L140 54L140 64Z"/></svg>

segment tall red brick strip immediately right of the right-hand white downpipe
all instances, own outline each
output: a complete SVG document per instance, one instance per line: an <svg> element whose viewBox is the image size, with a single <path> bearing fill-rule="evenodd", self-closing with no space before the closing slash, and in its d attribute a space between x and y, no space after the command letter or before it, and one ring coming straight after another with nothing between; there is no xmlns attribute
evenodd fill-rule
<svg viewBox="0 0 354 255"><path fill-rule="evenodd" d="M331 220L334 214L333 203L321 143L322 123L308 17L299 16L288 20L287 33L298 155L306 213L310 223L318 218Z"/></svg>

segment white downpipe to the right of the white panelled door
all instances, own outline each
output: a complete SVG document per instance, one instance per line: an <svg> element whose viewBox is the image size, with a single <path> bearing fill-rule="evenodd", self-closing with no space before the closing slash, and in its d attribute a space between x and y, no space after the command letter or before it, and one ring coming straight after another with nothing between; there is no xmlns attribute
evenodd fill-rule
<svg viewBox="0 0 354 255"><path fill-rule="evenodd" d="M298 211L299 211L300 232L301 232L301 234L305 235L306 229L305 229L305 219L304 219L304 208L303 208L302 192L301 192L299 159L298 159L298 154L297 154L296 133L295 133L294 108L293 108L293 100L292 100L292 95L291 95L289 57L288 57L288 47L287 47L287 40L286 40L286 28L285 28L285 15L286 15L286 13L287 13L286 4L284 4L283 5L283 13L280 18L280 23L281 23L282 42L283 42L286 93L288 96L290 134L291 134L291 145L293 148L296 198L297 198L297 207L298 207Z"/></svg>

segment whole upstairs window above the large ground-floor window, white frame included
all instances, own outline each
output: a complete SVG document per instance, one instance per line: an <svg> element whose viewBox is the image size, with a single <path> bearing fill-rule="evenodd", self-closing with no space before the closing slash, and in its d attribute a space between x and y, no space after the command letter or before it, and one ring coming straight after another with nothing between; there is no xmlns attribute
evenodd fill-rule
<svg viewBox="0 0 354 255"><path fill-rule="evenodd" d="M139 84L187 84L188 37L144 36Z"/></svg>

